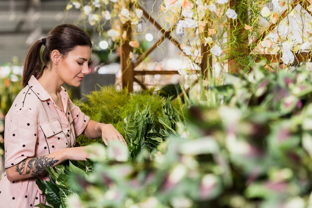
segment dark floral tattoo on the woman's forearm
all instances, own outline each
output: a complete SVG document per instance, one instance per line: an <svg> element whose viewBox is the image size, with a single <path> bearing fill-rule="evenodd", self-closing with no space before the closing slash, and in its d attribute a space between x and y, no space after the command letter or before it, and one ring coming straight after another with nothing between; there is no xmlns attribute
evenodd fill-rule
<svg viewBox="0 0 312 208"><path fill-rule="evenodd" d="M16 165L15 171L19 175L27 175L32 171L31 176L38 176L45 173L45 168L53 167L58 160L53 160L54 157L35 157L31 159L25 159Z"/></svg>

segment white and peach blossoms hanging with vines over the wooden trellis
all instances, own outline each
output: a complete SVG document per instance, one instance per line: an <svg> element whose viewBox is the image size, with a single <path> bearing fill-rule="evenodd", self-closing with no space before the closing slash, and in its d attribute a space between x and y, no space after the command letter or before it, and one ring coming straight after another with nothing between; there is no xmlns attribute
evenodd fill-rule
<svg viewBox="0 0 312 208"><path fill-rule="evenodd" d="M261 59L259 54L279 54L280 62L293 65L298 62L296 53L311 51L311 0L236 0L233 5L232 1L163 0L159 9L149 15L162 21L162 29L180 40L177 46L194 66L201 63L205 52L202 44L209 46L207 52L223 70L224 60L229 58L250 68L253 61ZM108 22L111 29L107 36L112 41L127 39L131 47L137 48L136 35L145 32L138 31L142 28L138 26L144 17L143 5L141 0L71 0L66 9L80 9L82 18L101 32ZM122 30L121 25L127 22L133 36ZM266 61L271 65L272 60Z"/></svg>

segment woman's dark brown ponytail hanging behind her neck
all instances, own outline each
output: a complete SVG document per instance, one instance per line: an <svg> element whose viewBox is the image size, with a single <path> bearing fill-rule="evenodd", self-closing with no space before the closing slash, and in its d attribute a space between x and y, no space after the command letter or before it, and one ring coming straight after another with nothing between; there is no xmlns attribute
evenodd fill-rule
<svg viewBox="0 0 312 208"><path fill-rule="evenodd" d="M32 75L34 75L37 78L42 73L43 64L40 58L41 46L42 46L42 41L37 40L28 51L28 54L26 56L26 60L24 63L22 82L21 82L21 85L23 88L26 87Z"/></svg>

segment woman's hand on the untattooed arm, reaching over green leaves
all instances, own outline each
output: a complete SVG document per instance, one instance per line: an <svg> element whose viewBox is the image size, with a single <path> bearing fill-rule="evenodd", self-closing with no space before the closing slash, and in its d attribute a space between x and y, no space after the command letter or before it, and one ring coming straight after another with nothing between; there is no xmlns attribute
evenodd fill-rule
<svg viewBox="0 0 312 208"><path fill-rule="evenodd" d="M117 131L117 129L112 124L101 123L99 124L101 129L101 135L103 142L108 145L108 141L116 140L122 142L127 146L126 140L124 137Z"/></svg>

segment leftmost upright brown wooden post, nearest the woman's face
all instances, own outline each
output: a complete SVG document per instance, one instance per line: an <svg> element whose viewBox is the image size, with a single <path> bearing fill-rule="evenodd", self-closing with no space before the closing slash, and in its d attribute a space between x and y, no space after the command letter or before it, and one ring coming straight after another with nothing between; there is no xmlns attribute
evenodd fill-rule
<svg viewBox="0 0 312 208"><path fill-rule="evenodd" d="M127 40L121 38L120 43L120 66L122 71L122 88L128 88L129 92L133 92L133 63L129 57L130 52L132 52L132 47L129 45L129 39L132 37L131 23L126 22L121 25L121 35L124 31L127 32Z"/></svg>

